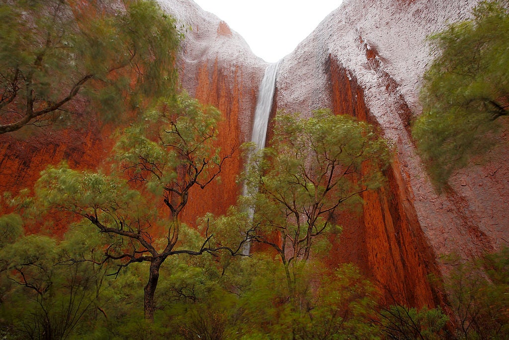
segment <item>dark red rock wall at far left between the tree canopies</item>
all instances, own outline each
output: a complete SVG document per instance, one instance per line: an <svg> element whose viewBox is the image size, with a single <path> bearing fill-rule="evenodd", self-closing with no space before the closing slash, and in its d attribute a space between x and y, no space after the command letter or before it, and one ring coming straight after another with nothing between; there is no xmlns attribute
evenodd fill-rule
<svg viewBox="0 0 509 340"><path fill-rule="evenodd" d="M111 147L111 125L100 126L93 114L74 116L70 127L31 127L0 135L0 193L18 194L34 187L42 170L67 161L74 169L97 169ZM4 206L5 212L9 209ZM39 231L39 226L31 232ZM51 232L61 236L67 225L56 222Z"/></svg>

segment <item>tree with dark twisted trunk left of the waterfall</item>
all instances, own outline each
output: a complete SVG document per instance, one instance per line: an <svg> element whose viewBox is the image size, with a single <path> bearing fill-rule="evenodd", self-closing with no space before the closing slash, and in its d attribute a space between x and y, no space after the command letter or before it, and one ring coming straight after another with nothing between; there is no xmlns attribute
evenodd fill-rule
<svg viewBox="0 0 509 340"><path fill-rule="evenodd" d="M210 184L234 152L222 154L214 145L219 118L217 109L185 93L161 101L120 133L115 163L122 174L76 171L63 164L43 171L36 184L45 206L83 217L112 237L105 255L120 261L118 271L132 263L150 264L144 288L147 320L154 318L159 270L168 256L238 252L215 243L208 225L201 246L186 248L186 239L201 236L180 221L191 189Z"/></svg>

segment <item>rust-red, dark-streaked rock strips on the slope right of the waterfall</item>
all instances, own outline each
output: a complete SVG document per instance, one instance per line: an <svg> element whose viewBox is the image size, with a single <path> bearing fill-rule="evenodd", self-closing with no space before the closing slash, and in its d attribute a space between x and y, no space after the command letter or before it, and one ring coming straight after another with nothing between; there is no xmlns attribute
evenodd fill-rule
<svg viewBox="0 0 509 340"><path fill-rule="evenodd" d="M364 91L355 77L332 57L328 67L333 112L377 125L366 108ZM376 192L364 193L361 216L346 216L348 222L342 223L344 230L334 260L352 261L367 270L387 303L434 307L441 297L428 275L438 275L439 271L420 229L405 181L397 177L401 173L399 168L394 155L391 167L385 171L387 185Z"/></svg>

